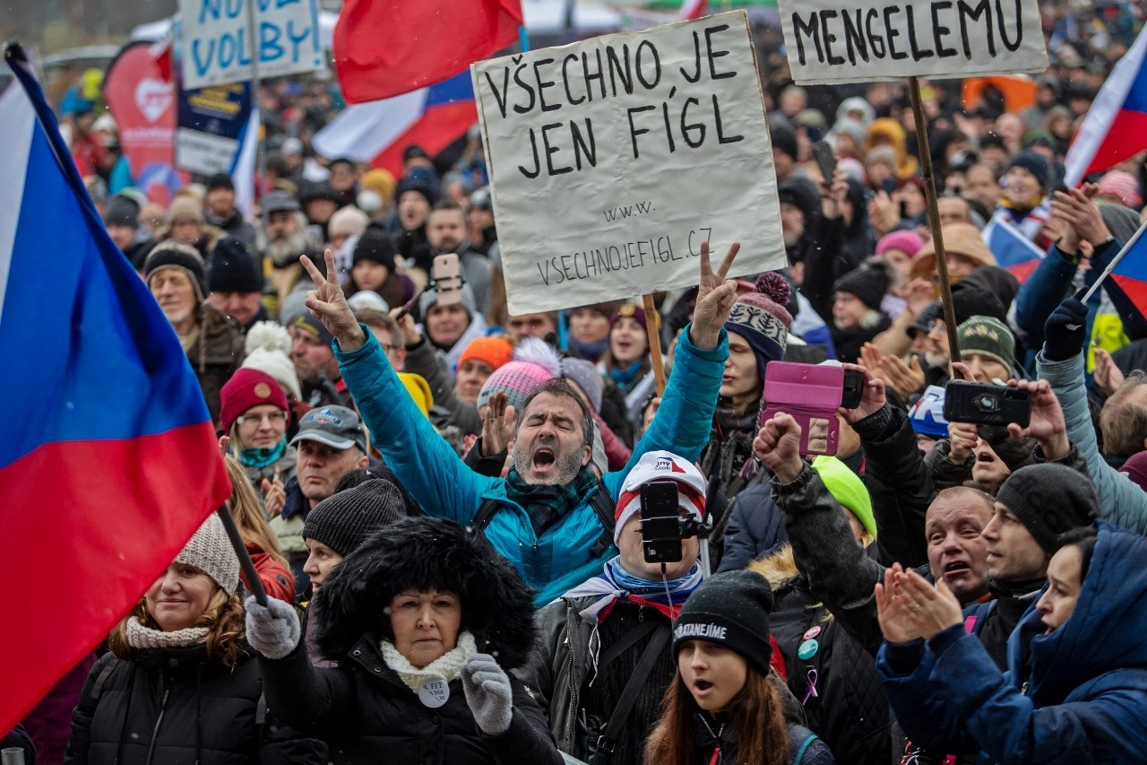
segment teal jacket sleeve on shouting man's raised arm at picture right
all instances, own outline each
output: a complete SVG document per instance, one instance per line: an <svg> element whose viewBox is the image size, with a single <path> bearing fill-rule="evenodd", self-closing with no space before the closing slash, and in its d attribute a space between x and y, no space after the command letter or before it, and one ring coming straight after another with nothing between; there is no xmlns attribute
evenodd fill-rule
<svg viewBox="0 0 1147 765"><path fill-rule="evenodd" d="M720 380L725 374L728 358L728 334L723 329L717 347L701 350L689 340L689 324L681 331L673 357L673 371L665 384L665 395L654 415L649 430L633 447L633 454L625 466L606 473L603 480L614 500L621 493L622 484L641 455L647 451L671 451L689 462L701 457L701 450L709 443L712 432L713 412Z"/></svg>

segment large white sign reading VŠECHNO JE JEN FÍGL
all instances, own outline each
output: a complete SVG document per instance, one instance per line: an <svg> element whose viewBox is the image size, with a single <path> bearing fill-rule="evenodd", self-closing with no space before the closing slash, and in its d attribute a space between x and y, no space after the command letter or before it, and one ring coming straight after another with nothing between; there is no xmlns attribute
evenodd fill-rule
<svg viewBox="0 0 1147 765"><path fill-rule="evenodd" d="M744 11L470 71L512 314L695 285L704 240L786 264Z"/></svg>

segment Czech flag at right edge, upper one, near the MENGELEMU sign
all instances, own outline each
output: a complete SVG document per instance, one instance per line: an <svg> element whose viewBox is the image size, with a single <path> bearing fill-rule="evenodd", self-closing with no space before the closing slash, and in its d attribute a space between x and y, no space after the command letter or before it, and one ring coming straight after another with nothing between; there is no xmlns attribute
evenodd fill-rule
<svg viewBox="0 0 1147 765"><path fill-rule="evenodd" d="M1119 59L1087 110L1063 160L1063 183L1107 170L1147 149L1147 28Z"/></svg>

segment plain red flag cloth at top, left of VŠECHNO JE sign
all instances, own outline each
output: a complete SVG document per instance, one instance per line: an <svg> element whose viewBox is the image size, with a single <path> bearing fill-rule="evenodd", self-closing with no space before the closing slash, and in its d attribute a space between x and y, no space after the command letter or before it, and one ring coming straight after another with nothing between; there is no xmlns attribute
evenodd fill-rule
<svg viewBox="0 0 1147 765"><path fill-rule="evenodd" d="M335 69L350 103L440 83L518 39L521 0L346 0Z"/></svg>

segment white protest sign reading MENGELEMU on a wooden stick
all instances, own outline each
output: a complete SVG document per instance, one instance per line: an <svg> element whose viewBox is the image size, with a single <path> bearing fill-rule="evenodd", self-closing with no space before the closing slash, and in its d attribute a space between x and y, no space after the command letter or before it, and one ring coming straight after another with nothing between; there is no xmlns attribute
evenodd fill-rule
<svg viewBox="0 0 1147 765"><path fill-rule="evenodd" d="M804 84L1043 72L1036 0L780 0L793 79Z"/></svg>

